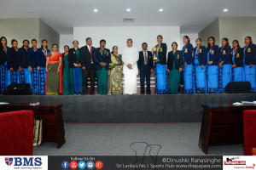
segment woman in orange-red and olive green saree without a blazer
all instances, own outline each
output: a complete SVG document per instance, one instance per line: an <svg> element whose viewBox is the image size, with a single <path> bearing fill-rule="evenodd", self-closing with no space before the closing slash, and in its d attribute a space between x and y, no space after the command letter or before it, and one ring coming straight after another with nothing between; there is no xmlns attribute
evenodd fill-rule
<svg viewBox="0 0 256 170"><path fill-rule="evenodd" d="M45 94L62 94L62 54L58 52L58 45L52 45L46 59L46 87Z"/></svg>

